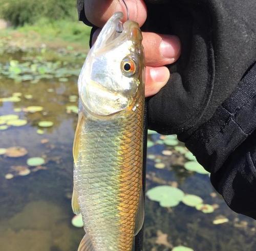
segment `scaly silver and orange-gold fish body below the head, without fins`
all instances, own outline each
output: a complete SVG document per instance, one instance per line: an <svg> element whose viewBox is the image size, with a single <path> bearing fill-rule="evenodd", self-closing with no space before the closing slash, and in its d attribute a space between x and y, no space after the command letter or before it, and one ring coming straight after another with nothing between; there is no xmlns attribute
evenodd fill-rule
<svg viewBox="0 0 256 251"><path fill-rule="evenodd" d="M74 185L95 250L131 251L142 188L143 107L113 120L86 119Z"/></svg>

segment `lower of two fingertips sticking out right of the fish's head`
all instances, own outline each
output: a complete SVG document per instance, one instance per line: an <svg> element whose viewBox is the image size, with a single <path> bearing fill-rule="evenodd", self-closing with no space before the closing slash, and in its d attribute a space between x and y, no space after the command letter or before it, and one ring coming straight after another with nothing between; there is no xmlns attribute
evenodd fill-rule
<svg viewBox="0 0 256 251"><path fill-rule="evenodd" d="M145 96L155 95L166 85L170 78L170 72L167 67L150 67L145 69Z"/></svg>

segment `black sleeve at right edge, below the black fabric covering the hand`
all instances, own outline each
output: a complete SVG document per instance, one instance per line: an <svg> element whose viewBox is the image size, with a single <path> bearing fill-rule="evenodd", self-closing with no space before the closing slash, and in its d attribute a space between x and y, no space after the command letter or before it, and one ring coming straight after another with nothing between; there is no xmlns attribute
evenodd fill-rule
<svg viewBox="0 0 256 251"><path fill-rule="evenodd" d="M256 64L214 116L181 140L227 205L256 219Z"/></svg>

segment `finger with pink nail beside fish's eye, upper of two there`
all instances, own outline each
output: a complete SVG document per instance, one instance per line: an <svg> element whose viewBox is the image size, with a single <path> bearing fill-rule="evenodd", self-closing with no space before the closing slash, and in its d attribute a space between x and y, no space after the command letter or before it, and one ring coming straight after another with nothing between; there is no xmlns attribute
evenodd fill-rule
<svg viewBox="0 0 256 251"><path fill-rule="evenodd" d="M162 66L174 63L180 56L181 43L177 36L142 32L145 64Z"/></svg>

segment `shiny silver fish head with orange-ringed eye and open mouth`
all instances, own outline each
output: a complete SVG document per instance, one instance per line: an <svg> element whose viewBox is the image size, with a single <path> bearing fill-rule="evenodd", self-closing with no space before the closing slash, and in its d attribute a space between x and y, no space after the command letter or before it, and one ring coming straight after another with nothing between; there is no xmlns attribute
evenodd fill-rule
<svg viewBox="0 0 256 251"><path fill-rule="evenodd" d="M138 23L121 23L122 12L106 22L78 79L81 105L91 114L108 116L136 104L144 95L144 55Z"/></svg>

